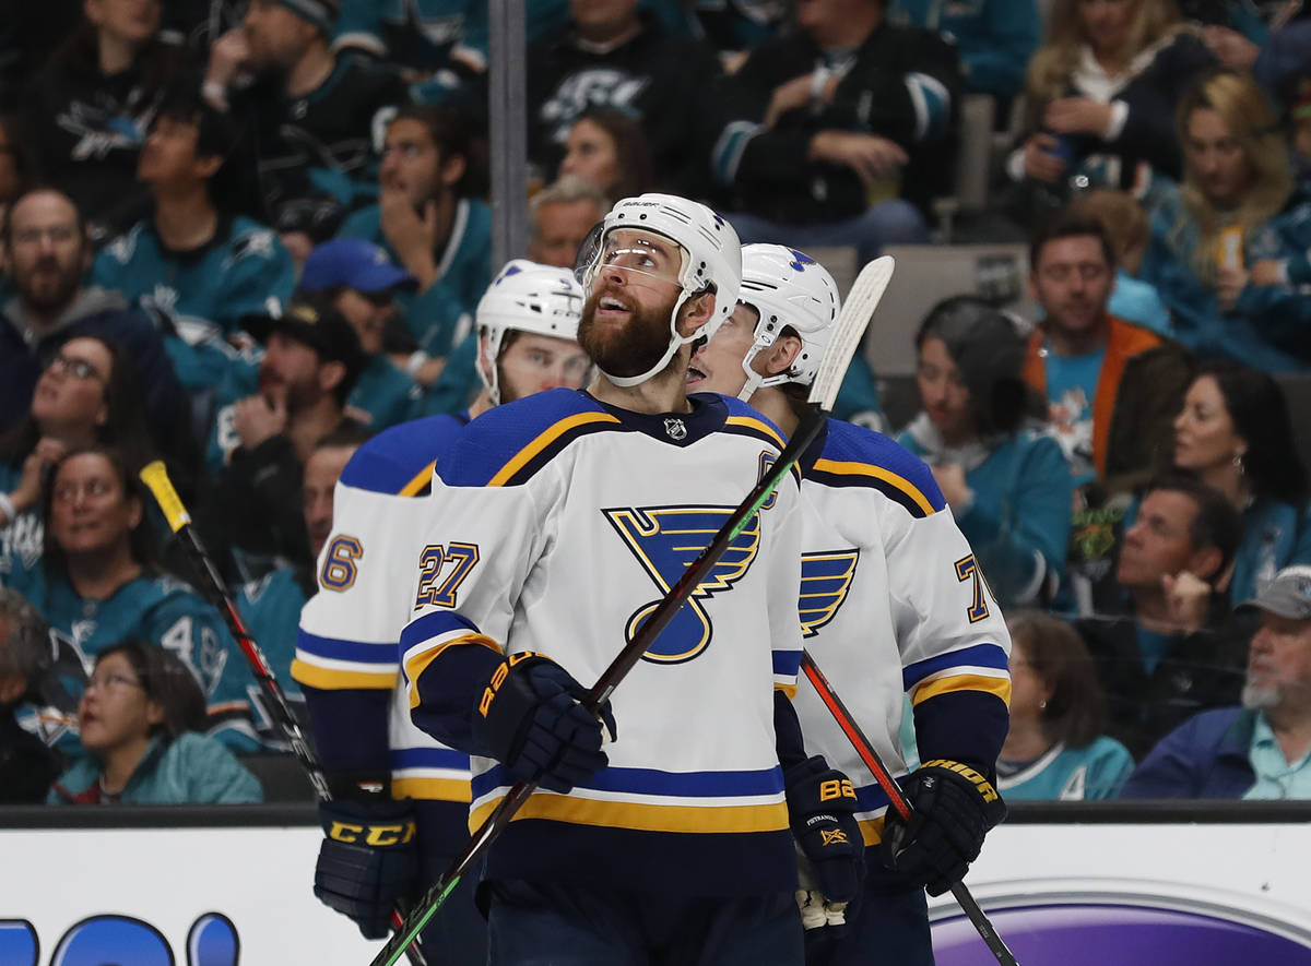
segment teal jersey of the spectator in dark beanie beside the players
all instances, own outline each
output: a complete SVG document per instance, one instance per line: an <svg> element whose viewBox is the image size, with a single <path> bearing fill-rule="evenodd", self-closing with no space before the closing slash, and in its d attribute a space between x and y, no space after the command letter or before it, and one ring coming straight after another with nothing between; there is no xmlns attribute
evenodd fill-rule
<svg viewBox="0 0 1311 966"><path fill-rule="evenodd" d="M1070 545L1074 482L1055 440L1023 429L994 449L960 453L920 414L897 437L927 462L958 462L974 503L956 513L1002 606L1041 601L1054 593Z"/></svg>

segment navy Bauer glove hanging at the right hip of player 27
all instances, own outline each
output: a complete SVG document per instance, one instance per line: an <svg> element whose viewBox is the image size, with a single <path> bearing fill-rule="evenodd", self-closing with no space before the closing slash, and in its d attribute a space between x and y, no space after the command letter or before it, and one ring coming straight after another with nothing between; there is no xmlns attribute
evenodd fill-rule
<svg viewBox="0 0 1311 966"><path fill-rule="evenodd" d="M823 893L823 910L830 915L826 921L813 924L842 925L843 916L851 919L855 912L865 881L865 840L855 815L856 789L821 755L788 768L783 781L792 834L810 861L814 885Z"/></svg>

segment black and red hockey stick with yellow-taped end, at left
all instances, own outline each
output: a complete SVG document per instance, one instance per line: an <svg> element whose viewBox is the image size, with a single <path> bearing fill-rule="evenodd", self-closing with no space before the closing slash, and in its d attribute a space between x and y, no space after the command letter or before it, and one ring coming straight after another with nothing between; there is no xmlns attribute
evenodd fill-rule
<svg viewBox="0 0 1311 966"><path fill-rule="evenodd" d="M219 609L224 623L228 626L228 631L232 632L232 637L241 648L241 653L245 654L246 662L250 665L250 671L254 674L254 679L260 685L260 691L264 694L264 699L269 704L269 713L273 716L273 720L277 723L283 736L286 736L287 743L291 745L291 750L296 755L296 760L300 762L300 767L305 770L305 775L309 778L309 784L313 785L315 796L319 801L332 801L332 792L328 788L328 779L324 776L324 770L319 763L319 757L315 754L313 747L305 738L305 733L302 730L295 712L292 712L291 706L287 703L287 695L278 683L278 678L274 677L273 668L269 665L267 658L265 658L260 645L256 644L254 637L250 636L250 631L246 630L245 622L241 619L241 614L237 611L236 605L232 603L232 598L228 596L228 592L223 585L223 579L219 576L214 562L210 559L208 552L205 550L205 545L201 543L201 538L197 535L195 528L191 525L191 514L186 512L186 507L182 505L182 499L177 495L172 480L168 478L168 470L164 467L164 462L156 459L155 462L148 463L142 469L140 478L155 496L155 501L159 504L160 509L164 512L164 518L168 520L169 528L172 528L173 533L178 535L178 539L182 541L182 546L186 547L187 554L191 556L191 560L203 581L203 589L207 592L206 596L210 598L210 602ZM401 912L399 910L393 910L392 925L400 927L402 921L404 918ZM427 959L423 958L423 953L420 952L417 942L408 944L406 953L414 966L427 966Z"/></svg>

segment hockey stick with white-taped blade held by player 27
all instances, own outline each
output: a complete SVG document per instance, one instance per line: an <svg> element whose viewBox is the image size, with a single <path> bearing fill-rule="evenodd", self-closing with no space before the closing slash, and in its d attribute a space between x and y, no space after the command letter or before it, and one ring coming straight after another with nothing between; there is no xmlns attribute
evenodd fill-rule
<svg viewBox="0 0 1311 966"><path fill-rule="evenodd" d="M829 351L825 353L819 372L815 374L815 381L808 399L810 408L802 416L792 438L788 440L787 446L783 448L773 466L770 467L760 482L747 493L741 505L733 510L718 533L711 538L709 545L701 551L700 556L683 571L683 576L665 594L665 598L656 606L656 610L652 611L646 622L633 635L633 639L624 645L615 660L610 662L610 666L602 671L597 683L589 689L587 694L579 702L587 711L594 715L600 713L600 707L619 686L619 682L637 665L642 654L656 641L656 637L674 619L674 615L687 602L687 598L692 596L692 592L709 576L714 564L724 555L724 551L737 539L742 529L760 509L760 505L770 499L779 483L792 470L793 463L814 442L838 397L838 387L842 385L842 377L847 372L847 364L851 361L851 356L864 336L865 326L869 325L869 318L878 305L878 300L882 298L884 291L888 288L893 266L893 259L884 257L871 262L860 272L860 276L851 287L847 304L842 306L842 314L834 326ZM460 880L468 874L479 856L510 825L514 813L528 800L536 787L534 781L519 781L510 788L506 797L501 800L492 814L479 826L479 830L473 832L473 838L469 839L464 851L455 857L451 867L433 884L433 887L427 890L427 894L423 895L410 915L406 916L405 925L400 932L392 935L387 945L374 957L370 966L393 966L397 958L400 958L400 950L404 944L409 942L410 939L423 929L427 920L433 918L447 897L459 886Z"/></svg>

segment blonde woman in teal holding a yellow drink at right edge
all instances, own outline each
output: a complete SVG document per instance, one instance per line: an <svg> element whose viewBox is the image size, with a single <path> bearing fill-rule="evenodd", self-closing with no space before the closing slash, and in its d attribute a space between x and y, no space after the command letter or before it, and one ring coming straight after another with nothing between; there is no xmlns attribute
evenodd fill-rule
<svg viewBox="0 0 1311 966"><path fill-rule="evenodd" d="M1142 277L1175 314L1175 338L1203 356L1266 372L1311 360L1311 298L1253 284L1257 260L1311 247L1311 202L1289 165L1278 115L1251 76L1214 71L1179 105L1184 179L1152 212Z"/></svg>

